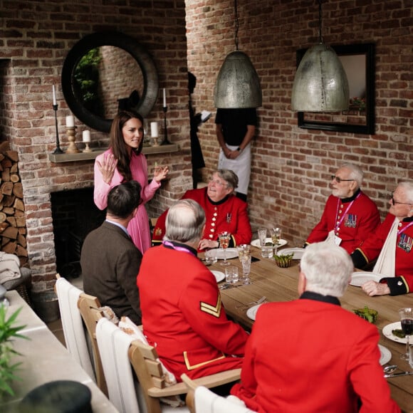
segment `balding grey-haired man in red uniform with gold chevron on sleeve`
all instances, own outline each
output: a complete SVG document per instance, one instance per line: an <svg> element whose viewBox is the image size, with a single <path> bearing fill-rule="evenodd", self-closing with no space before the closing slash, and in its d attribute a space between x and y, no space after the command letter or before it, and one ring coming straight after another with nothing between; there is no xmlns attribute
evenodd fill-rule
<svg viewBox="0 0 413 413"><path fill-rule="evenodd" d="M171 206L165 239L145 252L137 276L143 332L178 381L182 373L196 378L240 368L248 338L226 318L216 278L197 258L204 226L197 202Z"/></svg>

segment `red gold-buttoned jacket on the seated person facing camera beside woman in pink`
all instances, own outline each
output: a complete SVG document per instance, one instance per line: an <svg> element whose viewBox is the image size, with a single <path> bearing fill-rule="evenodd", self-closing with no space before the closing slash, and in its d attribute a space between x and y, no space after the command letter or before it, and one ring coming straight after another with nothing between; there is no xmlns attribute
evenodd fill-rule
<svg viewBox="0 0 413 413"><path fill-rule="evenodd" d="M206 195L206 190L207 188L191 189L182 197L182 199L194 199L204 208L206 226L203 238L217 241L220 231L229 231L231 233L229 247L250 244L252 231L247 211L248 204L235 195L229 195L220 202L213 202ZM154 245L160 244L164 237L167 212L164 211L155 225L152 236Z"/></svg>

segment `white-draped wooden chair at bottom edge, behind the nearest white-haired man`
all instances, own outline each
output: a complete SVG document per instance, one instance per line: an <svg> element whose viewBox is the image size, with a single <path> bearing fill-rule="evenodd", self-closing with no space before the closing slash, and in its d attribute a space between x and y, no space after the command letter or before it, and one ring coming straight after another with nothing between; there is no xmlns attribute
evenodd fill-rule
<svg viewBox="0 0 413 413"><path fill-rule="evenodd" d="M199 385L197 380L189 379L185 374L181 376L181 379L188 387L186 402L190 413L197 413L199 405L202 406L202 412L209 413L256 413L245 407L243 402L235 396L228 398L219 396Z"/></svg>

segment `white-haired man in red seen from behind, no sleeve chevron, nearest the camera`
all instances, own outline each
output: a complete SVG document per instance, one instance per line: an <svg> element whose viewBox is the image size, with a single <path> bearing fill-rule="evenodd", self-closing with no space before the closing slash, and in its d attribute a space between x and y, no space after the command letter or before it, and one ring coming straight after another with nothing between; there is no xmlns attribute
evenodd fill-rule
<svg viewBox="0 0 413 413"><path fill-rule="evenodd" d="M400 412L383 377L376 326L340 306L352 271L338 246L305 249L300 298L258 308L231 394L257 412Z"/></svg>

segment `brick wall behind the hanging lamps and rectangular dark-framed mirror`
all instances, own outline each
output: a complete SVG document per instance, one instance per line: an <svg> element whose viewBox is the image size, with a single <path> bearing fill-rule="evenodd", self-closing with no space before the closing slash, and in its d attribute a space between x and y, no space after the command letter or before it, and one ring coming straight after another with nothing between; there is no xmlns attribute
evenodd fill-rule
<svg viewBox="0 0 413 413"><path fill-rule="evenodd" d="M234 2L187 0L188 68L197 76L193 104L215 115L213 90L225 56L235 50ZM330 45L375 43L375 135L300 129L291 111L296 50L318 43L318 2L238 1L239 50L249 55L263 90L253 143L249 204L255 226L277 222L301 245L320 219L329 177L343 162L360 164L365 192L382 216L388 194L413 179L413 1L323 2ZM200 127L206 161L216 167L214 117Z"/></svg>

